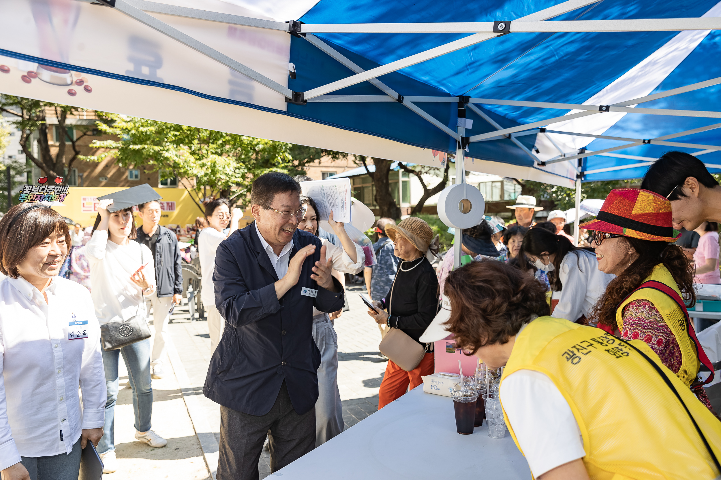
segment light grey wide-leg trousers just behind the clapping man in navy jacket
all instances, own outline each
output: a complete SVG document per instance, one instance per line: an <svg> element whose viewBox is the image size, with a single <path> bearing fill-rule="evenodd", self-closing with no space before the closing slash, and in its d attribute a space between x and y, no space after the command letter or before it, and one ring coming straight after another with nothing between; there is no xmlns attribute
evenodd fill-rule
<svg viewBox="0 0 721 480"><path fill-rule="evenodd" d="M313 317L313 340L320 350L316 447L343 433L343 409L338 391L338 335L328 314Z"/></svg>

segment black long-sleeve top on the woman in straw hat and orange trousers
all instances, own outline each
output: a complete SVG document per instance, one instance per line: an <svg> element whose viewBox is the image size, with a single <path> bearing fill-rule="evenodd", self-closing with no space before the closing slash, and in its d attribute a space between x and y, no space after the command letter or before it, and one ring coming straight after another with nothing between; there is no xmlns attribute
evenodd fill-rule
<svg viewBox="0 0 721 480"><path fill-rule="evenodd" d="M395 286L386 294L384 306L386 309L390 306L391 327L399 328L418 342L438 310L438 277L427 258L400 263Z"/></svg>

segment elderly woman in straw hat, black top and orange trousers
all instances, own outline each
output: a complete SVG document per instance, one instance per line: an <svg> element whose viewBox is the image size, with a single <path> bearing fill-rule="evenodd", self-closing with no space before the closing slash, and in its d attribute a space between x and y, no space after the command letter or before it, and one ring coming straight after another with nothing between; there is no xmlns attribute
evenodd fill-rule
<svg viewBox="0 0 721 480"><path fill-rule="evenodd" d="M373 302L378 311L368 309L368 314L379 325L404 332L423 347L425 354L410 371L389 359L378 394L379 409L401 397L409 385L414 389L422 384L421 376L433 373L433 344L421 343L418 338L438 311L438 278L430 265L438 253L438 235L434 238L428 223L417 217L386 225L386 234L402 262L385 298Z"/></svg>

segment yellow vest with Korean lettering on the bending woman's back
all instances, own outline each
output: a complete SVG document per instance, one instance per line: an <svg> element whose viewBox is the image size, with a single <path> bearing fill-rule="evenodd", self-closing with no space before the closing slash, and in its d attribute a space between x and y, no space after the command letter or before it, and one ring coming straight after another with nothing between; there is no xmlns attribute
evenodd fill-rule
<svg viewBox="0 0 721 480"><path fill-rule="evenodd" d="M595 327L539 317L518 334L501 384L523 369L553 381L578 422L592 480L715 479L721 472L686 409L629 343L660 366L721 458L721 422L642 340L625 342ZM523 452L508 415L505 422Z"/></svg>

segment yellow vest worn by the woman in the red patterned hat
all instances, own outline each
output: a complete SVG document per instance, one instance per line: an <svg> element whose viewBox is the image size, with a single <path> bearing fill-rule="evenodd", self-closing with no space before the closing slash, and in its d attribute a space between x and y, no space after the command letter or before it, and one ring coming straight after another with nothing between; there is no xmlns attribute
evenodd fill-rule
<svg viewBox="0 0 721 480"><path fill-rule="evenodd" d="M645 279L644 282L649 280L659 281L662 284L668 285L676 291L678 296L681 296L681 291L678 289L676 281L673 279L673 276L671 276L668 268L663 266L663 263L653 267L653 272L651 272L650 276ZM678 342L678 346L681 348L681 368L678 368L676 376L683 381L686 386L691 386L699 374L699 368L701 367L699 354L696 352L694 341L689 337L686 316L684 312L681 312L681 308L678 307L678 304L676 304L671 297L655 289L640 289L634 291L622 302L619 308L616 309L616 323L619 325L619 332L624 330L624 321L621 318L624 308L630 302L641 299L648 300L658 309L666 325L668 325L668 328L673 332L673 336L676 337L676 342Z"/></svg>

